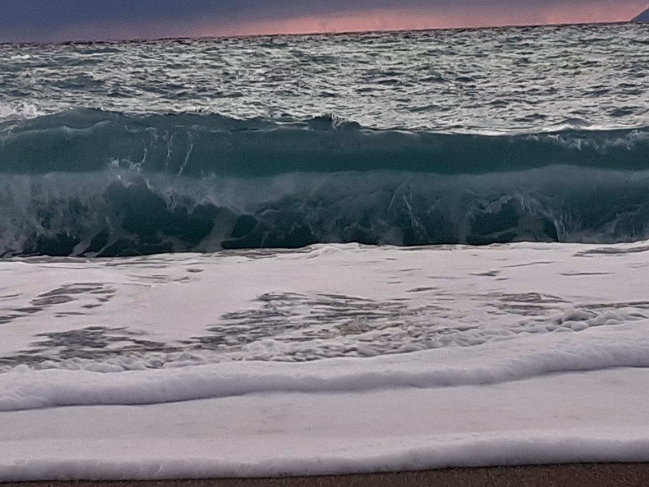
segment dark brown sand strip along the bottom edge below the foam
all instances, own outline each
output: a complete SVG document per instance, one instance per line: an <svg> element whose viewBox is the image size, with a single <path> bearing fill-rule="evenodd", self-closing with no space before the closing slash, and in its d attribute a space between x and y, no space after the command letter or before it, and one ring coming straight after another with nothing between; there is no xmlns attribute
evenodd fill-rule
<svg viewBox="0 0 649 487"><path fill-rule="evenodd" d="M567 464L180 481L7 482L1 487L648 487L649 464Z"/></svg>

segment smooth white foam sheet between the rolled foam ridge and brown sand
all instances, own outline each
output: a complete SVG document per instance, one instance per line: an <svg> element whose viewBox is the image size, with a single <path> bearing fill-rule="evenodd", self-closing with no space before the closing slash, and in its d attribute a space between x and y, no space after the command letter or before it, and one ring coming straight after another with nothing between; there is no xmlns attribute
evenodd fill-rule
<svg viewBox="0 0 649 487"><path fill-rule="evenodd" d="M240 477L646 461L648 386L646 369L614 369L489 387L5 412L0 478Z"/></svg>

